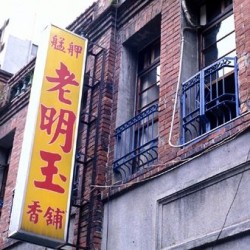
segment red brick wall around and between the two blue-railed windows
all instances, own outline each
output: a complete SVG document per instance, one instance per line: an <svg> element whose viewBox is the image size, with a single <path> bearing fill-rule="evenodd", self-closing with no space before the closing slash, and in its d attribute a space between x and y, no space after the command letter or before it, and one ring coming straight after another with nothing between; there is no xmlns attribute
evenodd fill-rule
<svg viewBox="0 0 250 250"><path fill-rule="evenodd" d="M161 5L162 4L162 5ZM132 4L131 4L132 6ZM143 27L149 20L149 14L153 13L153 6L157 6L158 11L161 11L161 83L159 97L159 144L158 144L158 162L149 169L133 174L127 183L115 183L114 174L112 171L112 162L114 160L114 138L111 137L109 162L106 170L107 183L111 185L110 189L103 191L103 198L107 198L109 194L114 195L121 191L125 191L134 185L140 184L147 179L152 178L172 167L175 167L183 162L196 157L199 154L212 150L224 143L226 140L231 140L239 133L244 132L249 127L250 114L250 74L249 74L249 35L250 22L249 1L235 0L234 15L235 15L235 30L236 30L236 52L239 63L239 91L241 103L241 115L215 129L213 132L205 136L201 136L196 142L185 147L179 147L180 138L180 105L177 102L177 112L173 123L173 134L171 142L176 147L169 145L170 124L174 107L175 92L177 89L179 60L181 49L181 6L180 1L153 1L139 13L129 18L122 27L118 29L116 48L116 71L114 80L114 105L112 115L117 113L117 96L119 72L122 70L119 66L121 63L121 48L122 42L126 41ZM131 7L132 8L132 7ZM135 7L133 6L135 9ZM156 12L158 12L156 11ZM129 9L128 9L129 12ZM151 15L152 18L153 15ZM115 117L112 119L112 131L116 128Z"/></svg>

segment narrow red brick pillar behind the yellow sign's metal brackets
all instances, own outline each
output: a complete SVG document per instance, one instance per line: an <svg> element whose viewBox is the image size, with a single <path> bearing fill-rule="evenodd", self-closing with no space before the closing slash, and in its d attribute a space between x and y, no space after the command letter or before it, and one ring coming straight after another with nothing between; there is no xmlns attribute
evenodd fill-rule
<svg viewBox="0 0 250 250"><path fill-rule="evenodd" d="M98 36L93 33L89 35ZM101 244L103 203L100 189L95 186L105 185L115 56L113 37L110 25L91 45L91 53L96 56L88 56L86 70L90 73L89 84L92 88L88 90L87 106L82 110L82 120L87 123L81 125L78 138L78 151L83 154L85 163L79 164L80 207L76 210L74 244L87 249L100 249Z"/></svg>

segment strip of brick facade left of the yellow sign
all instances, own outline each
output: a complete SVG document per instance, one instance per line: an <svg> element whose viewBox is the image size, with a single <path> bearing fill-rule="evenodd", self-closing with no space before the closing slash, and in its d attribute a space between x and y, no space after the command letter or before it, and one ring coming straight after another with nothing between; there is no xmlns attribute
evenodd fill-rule
<svg viewBox="0 0 250 250"><path fill-rule="evenodd" d="M17 84L22 77L27 74L34 67L34 61L21 70L17 76L13 76L9 80L10 88ZM1 211L1 248L8 246L13 240L8 240L8 227L10 222L10 212L12 206L12 200L15 190L16 175L18 169L18 163L20 159L20 152L23 141L23 131L26 121L27 104L29 100L29 90L25 90L20 93L19 96L12 99L5 110L1 113L0 122L0 138L14 132L13 147L11 152L11 158L9 162L8 178L6 182L6 189L4 195L4 203ZM15 241L14 241L15 242Z"/></svg>

